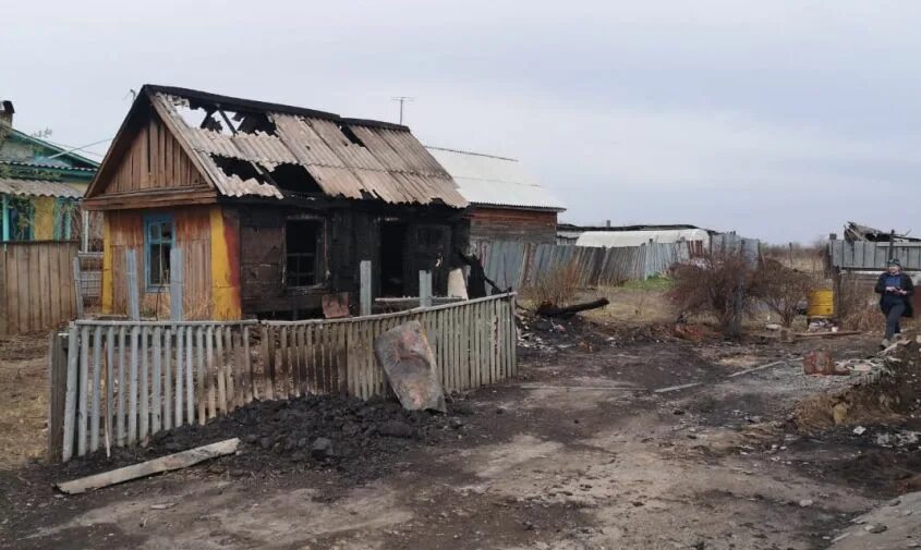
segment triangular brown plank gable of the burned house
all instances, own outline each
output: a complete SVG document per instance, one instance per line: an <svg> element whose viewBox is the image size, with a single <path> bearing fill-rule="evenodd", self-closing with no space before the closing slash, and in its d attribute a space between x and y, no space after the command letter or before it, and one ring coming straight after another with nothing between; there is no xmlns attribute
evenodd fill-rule
<svg viewBox="0 0 921 550"><path fill-rule="evenodd" d="M156 113L147 118L113 167L105 194L199 187L205 179Z"/></svg>

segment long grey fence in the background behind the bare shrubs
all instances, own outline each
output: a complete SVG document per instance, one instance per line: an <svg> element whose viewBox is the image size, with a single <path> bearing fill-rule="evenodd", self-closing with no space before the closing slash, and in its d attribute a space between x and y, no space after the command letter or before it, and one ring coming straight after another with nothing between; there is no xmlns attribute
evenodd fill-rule
<svg viewBox="0 0 921 550"><path fill-rule="evenodd" d="M756 261L759 249L758 240L718 233L706 246L687 241L611 248L493 241L477 243L474 253L497 286L524 289L560 268L574 268L580 286L615 285L664 274L706 252L738 253Z"/></svg>

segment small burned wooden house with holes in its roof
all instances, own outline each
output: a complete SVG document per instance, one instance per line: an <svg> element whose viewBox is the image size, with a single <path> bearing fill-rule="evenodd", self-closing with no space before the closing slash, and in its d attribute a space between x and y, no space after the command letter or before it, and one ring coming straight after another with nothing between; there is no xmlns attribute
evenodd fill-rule
<svg viewBox="0 0 921 550"><path fill-rule="evenodd" d="M124 314L125 250L142 310L181 277L186 317L306 317L349 293L447 288L466 200L402 125L146 85L85 197L105 211L104 310ZM173 274L170 250L183 250Z"/></svg>

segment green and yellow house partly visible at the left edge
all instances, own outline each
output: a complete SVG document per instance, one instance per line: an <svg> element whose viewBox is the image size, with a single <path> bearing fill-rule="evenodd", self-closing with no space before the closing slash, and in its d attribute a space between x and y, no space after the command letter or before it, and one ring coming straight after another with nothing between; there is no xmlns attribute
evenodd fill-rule
<svg viewBox="0 0 921 550"><path fill-rule="evenodd" d="M80 197L98 164L13 127L0 103L0 240L68 241L81 231Z"/></svg>

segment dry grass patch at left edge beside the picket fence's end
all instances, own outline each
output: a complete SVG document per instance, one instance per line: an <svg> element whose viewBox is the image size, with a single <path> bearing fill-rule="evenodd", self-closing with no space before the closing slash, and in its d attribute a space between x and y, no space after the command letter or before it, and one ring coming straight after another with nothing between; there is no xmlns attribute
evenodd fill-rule
<svg viewBox="0 0 921 550"><path fill-rule="evenodd" d="M45 334L0 340L0 469L45 455L48 416Z"/></svg>

